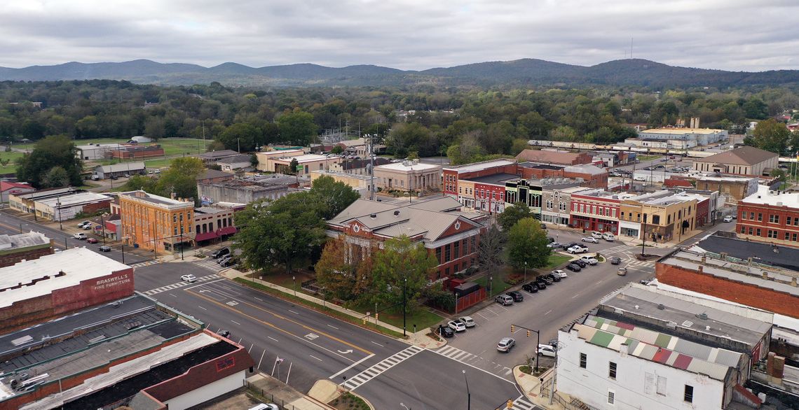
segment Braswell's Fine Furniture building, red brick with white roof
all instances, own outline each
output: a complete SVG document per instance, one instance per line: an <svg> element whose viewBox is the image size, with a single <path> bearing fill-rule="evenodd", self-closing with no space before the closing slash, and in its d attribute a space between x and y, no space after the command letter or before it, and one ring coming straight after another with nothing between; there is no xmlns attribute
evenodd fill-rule
<svg viewBox="0 0 799 410"><path fill-rule="evenodd" d="M133 268L86 248L0 268L0 333L133 294Z"/></svg>

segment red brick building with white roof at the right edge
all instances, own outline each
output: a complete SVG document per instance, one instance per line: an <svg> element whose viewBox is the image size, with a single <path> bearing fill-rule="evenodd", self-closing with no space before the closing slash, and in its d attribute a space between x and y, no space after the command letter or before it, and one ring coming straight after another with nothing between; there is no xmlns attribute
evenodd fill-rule
<svg viewBox="0 0 799 410"><path fill-rule="evenodd" d="M738 201L735 231L741 239L799 247L799 192L757 192Z"/></svg>

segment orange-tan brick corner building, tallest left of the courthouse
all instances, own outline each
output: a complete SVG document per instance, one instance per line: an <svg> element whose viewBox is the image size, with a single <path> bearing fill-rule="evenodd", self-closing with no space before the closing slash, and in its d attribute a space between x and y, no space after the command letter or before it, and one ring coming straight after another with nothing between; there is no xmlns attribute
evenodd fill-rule
<svg viewBox="0 0 799 410"><path fill-rule="evenodd" d="M132 191L119 195L119 207L127 245L161 251L192 240L193 201Z"/></svg>

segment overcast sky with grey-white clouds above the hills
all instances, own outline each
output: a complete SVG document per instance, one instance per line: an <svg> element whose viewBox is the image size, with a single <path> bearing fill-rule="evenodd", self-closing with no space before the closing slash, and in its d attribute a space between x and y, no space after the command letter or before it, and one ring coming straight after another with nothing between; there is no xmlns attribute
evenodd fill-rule
<svg viewBox="0 0 799 410"><path fill-rule="evenodd" d="M799 0L0 0L0 66L429 69L539 58L799 69Z"/></svg>

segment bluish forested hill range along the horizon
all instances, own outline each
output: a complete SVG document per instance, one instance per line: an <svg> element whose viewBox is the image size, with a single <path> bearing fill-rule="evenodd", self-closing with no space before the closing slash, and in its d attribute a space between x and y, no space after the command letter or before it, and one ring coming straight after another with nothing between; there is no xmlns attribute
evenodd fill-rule
<svg viewBox="0 0 799 410"><path fill-rule="evenodd" d="M799 83L799 70L760 73L674 67L654 61L628 59L584 67L525 58L455 67L411 71L377 65L342 68L315 64L252 68L225 63L210 68L193 64L162 64L149 60L120 63L34 65L23 69L0 67L0 81L127 80L139 84L193 85L213 81L248 86L344 85L638 85L651 87L729 87Z"/></svg>

